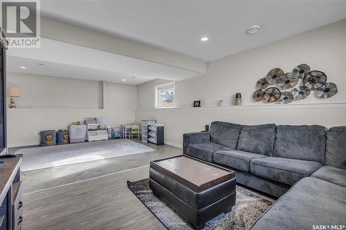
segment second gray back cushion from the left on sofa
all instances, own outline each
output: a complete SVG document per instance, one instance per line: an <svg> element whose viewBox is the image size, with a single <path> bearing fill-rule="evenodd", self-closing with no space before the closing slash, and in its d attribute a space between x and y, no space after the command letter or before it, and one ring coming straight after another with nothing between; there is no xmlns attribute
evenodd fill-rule
<svg viewBox="0 0 346 230"><path fill-rule="evenodd" d="M275 124L243 126L240 130L237 150L272 157L275 141Z"/></svg>

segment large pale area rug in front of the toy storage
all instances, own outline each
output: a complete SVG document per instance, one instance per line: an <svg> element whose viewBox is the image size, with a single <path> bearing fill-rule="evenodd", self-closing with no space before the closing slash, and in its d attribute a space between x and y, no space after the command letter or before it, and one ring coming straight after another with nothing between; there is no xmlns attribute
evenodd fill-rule
<svg viewBox="0 0 346 230"><path fill-rule="evenodd" d="M15 154L23 154L21 171L31 171L152 151L156 150L132 140L118 139L21 148Z"/></svg>

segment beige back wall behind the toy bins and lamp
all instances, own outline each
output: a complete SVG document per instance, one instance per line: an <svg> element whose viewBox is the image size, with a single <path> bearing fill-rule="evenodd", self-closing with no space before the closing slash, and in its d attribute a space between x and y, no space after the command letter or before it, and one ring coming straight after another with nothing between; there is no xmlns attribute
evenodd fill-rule
<svg viewBox="0 0 346 230"><path fill-rule="evenodd" d="M67 128L84 117L107 117L109 125L134 122L136 86L64 77L8 73L17 86L16 109L8 109L8 146L39 144L39 131ZM9 99L8 99L9 100Z"/></svg>

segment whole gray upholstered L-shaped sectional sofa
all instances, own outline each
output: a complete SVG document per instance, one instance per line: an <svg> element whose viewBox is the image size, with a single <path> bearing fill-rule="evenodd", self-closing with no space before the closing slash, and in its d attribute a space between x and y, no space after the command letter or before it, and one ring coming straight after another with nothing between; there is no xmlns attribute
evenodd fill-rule
<svg viewBox="0 0 346 230"><path fill-rule="evenodd" d="M237 183L280 198L252 229L346 224L346 126L212 122L210 132L183 135L183 153L226 166Z"/></svg>

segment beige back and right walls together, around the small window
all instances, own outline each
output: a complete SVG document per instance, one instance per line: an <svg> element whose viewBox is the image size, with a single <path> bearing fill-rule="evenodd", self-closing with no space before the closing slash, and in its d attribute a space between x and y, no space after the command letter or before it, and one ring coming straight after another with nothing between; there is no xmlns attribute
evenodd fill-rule
<svg viewBox="0 0 346 230"><path fill-rule="evenodd" d="M54 34L47 32L48 35ZM161 79L136 87L9 73L8 86L18 86L21 97L16 98L19 108L8 110L8 144L38 144L39 136L35 133L66 128L73 121L94 116L107 117L112 125L157 119L165 124L166 143L176 146L181 145L183 133L201 131L214 120L241 124L346 125L345 42L346 21L341 21L212 61L206 75L176 82L174 109L154 108L155 86L168 82ZM268 70L280 67L289 72L302 63L325 72L328 82L338 85L339 93L329 99L310 95L285 106L253 102L255 83ZM243 95L243 106L230 106L237 92ZM197 99L205 108L191 108ZM219 99L224 99L224 107L216 106Z"/></svg>

